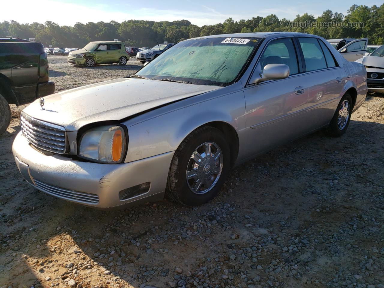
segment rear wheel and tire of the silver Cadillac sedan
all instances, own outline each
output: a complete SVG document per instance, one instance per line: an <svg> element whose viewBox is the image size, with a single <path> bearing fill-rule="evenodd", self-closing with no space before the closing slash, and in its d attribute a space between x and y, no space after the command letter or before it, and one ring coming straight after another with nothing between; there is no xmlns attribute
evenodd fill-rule
<svg viewBox="0 0 384 288"><path fill-rule="evenodd" d="M351 121L352 109L353 104L351 95L344 94L331 122L329 123L329 126L326 129L329 136L340 137L346 132L349 121Z"/></svg>

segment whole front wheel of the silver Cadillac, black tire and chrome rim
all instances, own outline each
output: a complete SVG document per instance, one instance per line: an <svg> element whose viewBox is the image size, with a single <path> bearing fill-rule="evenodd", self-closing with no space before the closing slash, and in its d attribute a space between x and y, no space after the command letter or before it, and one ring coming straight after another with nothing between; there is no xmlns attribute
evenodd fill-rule
<svg viewBox="0 0 384 288"><path fill-rule="evenodd" d="M222 132L205 126L177 148L169 169L166 195L187 206L202 205L222 187L230 167L230 147Z"/></svg>

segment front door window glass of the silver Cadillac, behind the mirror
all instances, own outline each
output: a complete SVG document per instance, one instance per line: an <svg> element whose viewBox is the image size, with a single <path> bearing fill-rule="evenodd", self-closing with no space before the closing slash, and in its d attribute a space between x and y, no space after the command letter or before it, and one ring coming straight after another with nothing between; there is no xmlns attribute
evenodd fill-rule
<svg viewBox="0 0 384 288"><path fill-rule="evenodd" d="M268 64L285 64L290 68L290 75L299 73L295 46L291 38L271 41L260 58L263 69Z"/></svg>

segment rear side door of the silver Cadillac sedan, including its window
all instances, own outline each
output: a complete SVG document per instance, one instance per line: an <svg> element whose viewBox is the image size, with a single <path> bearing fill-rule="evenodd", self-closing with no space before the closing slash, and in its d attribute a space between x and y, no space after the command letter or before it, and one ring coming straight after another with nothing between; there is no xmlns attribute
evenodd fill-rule
<svg viewBox="0 0 384 288"><path fill-rule="evenodd" d="M346 73L321 39L298 37L297 40L307 75L308 125L312 131L331 121Z"/></svg>

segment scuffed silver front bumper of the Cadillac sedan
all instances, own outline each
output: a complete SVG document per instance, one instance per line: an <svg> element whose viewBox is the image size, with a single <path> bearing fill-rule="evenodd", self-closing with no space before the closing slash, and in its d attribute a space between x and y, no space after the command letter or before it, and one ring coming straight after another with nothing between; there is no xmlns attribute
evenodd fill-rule
<svg viewBox="0 0 384 288"><path fill-rule="evenodd" d="M19 132L12 145L18 169L36 189L60 199L102 209L164 197L174 151L121 164L73 160L35 149ZM151 182L144 194L119 199L121 190Z"/></svg>

